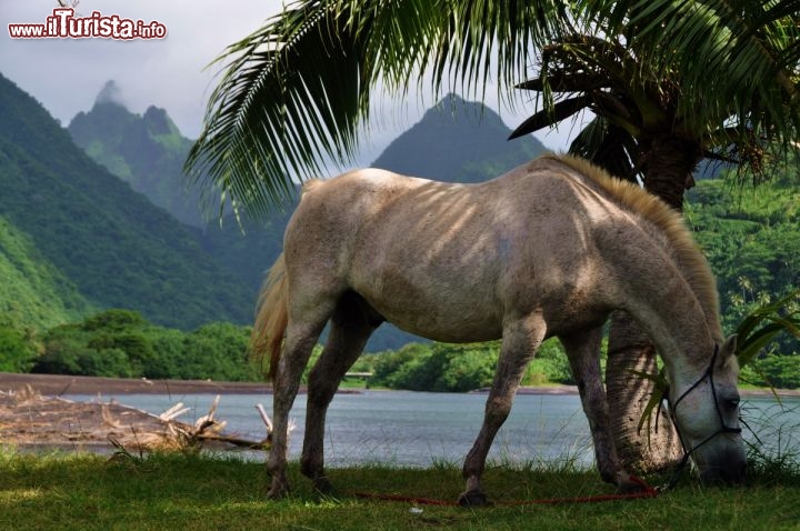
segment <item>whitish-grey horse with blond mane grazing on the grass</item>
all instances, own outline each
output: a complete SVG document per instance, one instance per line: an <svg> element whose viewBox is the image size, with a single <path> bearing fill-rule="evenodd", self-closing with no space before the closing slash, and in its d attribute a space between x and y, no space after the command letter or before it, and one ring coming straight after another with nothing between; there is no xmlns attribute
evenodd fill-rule
<svg viewBox="0 0 800 531"><path fill-rule="evenodd" d="M288 490L287 422L322 328L308 385L301 470L320 490L324 417L342 377L383 321L448 342L502 338L483 425L463 465L463 504L528 362L552 335L578 382L603 480L636 489L613 444L600 377L601 328L628 311L652 338L672 413L706 480L741 481L736 339L719 322L714 279L679 214L580 159L547 156L480 184L377 169L311 181L261 294L253 351L270 355L270 495Z"/></svg>

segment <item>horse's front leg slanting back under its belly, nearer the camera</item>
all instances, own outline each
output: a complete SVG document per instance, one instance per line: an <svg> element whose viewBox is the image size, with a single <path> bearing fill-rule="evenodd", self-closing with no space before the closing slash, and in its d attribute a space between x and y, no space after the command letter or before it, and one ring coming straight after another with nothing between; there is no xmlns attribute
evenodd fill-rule
<svg viewBox="0 0 800 531"><path fill-rule="evenodd" d="M546 330L540 313L516 321L503 329L500 358L494 372L494 382L487 399L483 424L464 460L463 478L467 480L467 488L458 499L460 505L489 504L481 487L487 455L498 430L511 412L511 403L524 370L544 339Z"/></svg>

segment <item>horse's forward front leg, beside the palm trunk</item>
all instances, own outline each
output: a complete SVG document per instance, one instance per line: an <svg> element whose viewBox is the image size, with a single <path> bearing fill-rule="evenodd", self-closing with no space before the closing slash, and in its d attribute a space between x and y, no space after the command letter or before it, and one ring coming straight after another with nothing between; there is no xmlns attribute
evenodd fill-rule
<svg viewBox="0 0 800 531"><path fill-rule="evenodd" d="M611 432L608 400L600 372L602 328L561 335L559 339L567 351L583 412L589 421L600 477L603 481L616 484L622 492L641 490L641 483L631 480L622 465Z"/></svg>

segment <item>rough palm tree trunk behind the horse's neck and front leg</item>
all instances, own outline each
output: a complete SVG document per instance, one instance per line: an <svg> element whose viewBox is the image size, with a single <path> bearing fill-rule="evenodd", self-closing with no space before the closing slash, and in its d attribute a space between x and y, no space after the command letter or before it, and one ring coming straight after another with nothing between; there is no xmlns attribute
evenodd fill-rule
<svg viewBox="0 0 800 531"><path fill-rule="evenodd" d="M692 186L691 170L701 158L697 142L676 137L640 139L640 169L644 188L677 210L682 210L683 192ZM654 278L658 272L653 271ZM650 339L626 312L611 318L606 385L611 429L620 459L628 470L650 472L674 464L682 454L678 434L666 414L652 418L639 429L654 383L634 372L654 373L656 349Z"/></svg>

